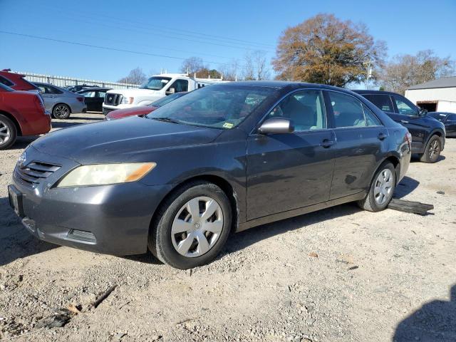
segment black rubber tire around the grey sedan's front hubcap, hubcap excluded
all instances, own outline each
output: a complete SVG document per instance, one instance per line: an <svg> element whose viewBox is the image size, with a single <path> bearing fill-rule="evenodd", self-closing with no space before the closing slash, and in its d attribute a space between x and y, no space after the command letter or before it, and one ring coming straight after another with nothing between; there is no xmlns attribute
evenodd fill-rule
<svg viewBox="0 0 456 342"><path fill-rule="evenodd" d="M215 199L222 209L222 232L208 252L197 257L185 257L177 252L172 242L172 224L182 207L196 197ZM220 187L205 181L195 181L181 187L157 210L150 228L147 246L150 252L164 264L177 269L192 269L208 264L222 251L232 227L232 208L227 195ZM187 234L187 233L185 233ZM197 240L198 241L198 240ZM195 241L194 241L195 242Z"/></svg>

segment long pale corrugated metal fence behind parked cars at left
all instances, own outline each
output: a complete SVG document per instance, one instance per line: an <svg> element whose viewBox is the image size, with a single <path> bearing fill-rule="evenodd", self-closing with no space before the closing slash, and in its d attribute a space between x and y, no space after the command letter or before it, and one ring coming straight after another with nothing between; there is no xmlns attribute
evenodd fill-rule
<svg viewBox="0 0 456 342"><path fill-rule="evenodd" d="M86 80L83 78L74 78L67 76L55 76L55 75L45 75L41 73L26 73L24 71L14 71L15 73L20 73L21 75L26 76L26 80L31 82L43 82L51 83L54 86L64 87L64 86L78 86L86 84L88 86L100 86L113 89L122 89L122 88L138 88L138 84L131 83L118 83L118 82L109 82L109 81L96 81L96 80Z"/></svg>

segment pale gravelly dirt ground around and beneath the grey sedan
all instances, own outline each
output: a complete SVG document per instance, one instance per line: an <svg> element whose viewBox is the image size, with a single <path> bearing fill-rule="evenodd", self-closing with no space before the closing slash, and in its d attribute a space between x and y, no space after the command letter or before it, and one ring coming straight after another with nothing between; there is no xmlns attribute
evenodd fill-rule
<svg viewBox="0 0 456 342"><path fill-rule="evenodd" d="M31 141L0 151L0 341L456 341L455 139L395 193L432 214L345 204L235 234L192 271L31 237L6 189ZM71 304L65 326L39 328Z"/></svg>

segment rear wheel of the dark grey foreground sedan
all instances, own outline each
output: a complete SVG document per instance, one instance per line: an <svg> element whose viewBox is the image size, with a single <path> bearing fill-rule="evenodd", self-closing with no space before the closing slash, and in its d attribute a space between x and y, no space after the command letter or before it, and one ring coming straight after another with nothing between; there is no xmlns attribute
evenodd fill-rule
<svg viewBox="0 0 456 342"><path fill-rule="evenodd" d="M383 164L378 167L377 172L375 172L368 195L365 199L358 201L358 206L369 212L380 212L390 204L390 200L393 198L395 185L396 174L393 164L390 162L383 162Z"/></svg>

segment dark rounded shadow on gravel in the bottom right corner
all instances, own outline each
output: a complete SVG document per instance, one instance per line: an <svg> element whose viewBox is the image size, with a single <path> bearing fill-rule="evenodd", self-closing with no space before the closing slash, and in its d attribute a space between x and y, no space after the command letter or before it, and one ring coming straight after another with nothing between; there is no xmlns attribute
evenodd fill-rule
<svg viewBox="0 0 456 342"><path fill-rule="evenodd" d="M393 342L408 341L456 341L456 284L450 301L430 301L398 324Z"/></svg>

